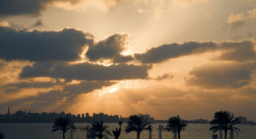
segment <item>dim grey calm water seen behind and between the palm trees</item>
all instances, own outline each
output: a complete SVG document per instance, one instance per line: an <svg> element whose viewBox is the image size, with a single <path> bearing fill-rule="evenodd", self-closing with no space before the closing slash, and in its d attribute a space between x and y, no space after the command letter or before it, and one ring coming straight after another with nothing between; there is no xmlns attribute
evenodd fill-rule
<svg viewBox="0 0 256 139"><path fill-rule="evenodd" d="M61 132L51 132L53 123L4 123L0 124L0 132L4 132L5 139L61 139ZM75 123L75 126L86 126L86 123ZM118 123L107 123L110 130L118 127ZM158 139L158 123L153 124L152 138ZM123 130L126 125L123 124ZM181 132L182 139L211 139L212 132L209 132L209 124L189 124ZM256 139L256 126L238 125L241 130L239 139ZM141 139L148 138L148 132L141 133ZM85 139L85 132L79 129L74 132L74 139ZM70 139L70 132L67 132L66 138ZM110 137L110 139L113 137ZM135 139L136 133L121 132L121 139ZM163 139L171 139L171 132L163 132ZM229 138L229 132L228 132Z"/></svg>

